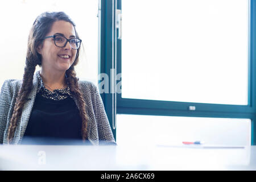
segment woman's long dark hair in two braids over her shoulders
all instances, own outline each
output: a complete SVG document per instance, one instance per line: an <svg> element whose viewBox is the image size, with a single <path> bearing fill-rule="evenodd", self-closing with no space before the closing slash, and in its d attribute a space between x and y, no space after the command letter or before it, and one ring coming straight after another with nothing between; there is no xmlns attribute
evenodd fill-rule
<svg viewBox="0 0 256 182"><path fill-rule="evenodd" d="M42 56L36 51L36 48L43 43L42 39L48 34L48 32L51 30L52 24L57 20L64 20L65 22L71 23L75 28L76 37L79 38L76 32L75 23L73 23L69 16L64 12L45 12L36 18L28 36L26 66L24 68L22 86L16 98L13 115L10 121L7 137L8 143L13 141L17 122L22 114L24 103L26 102L28 94L32 90L36 65L39 65L39 67L42 65ZM86 104L84 98L82 97L82 93L79 89L79 78L76 77L76 72L74 69L74 66L79 62L79 51L80 48L77 49L76 59L71 67L66 71L66 75L72 97L75 97L77 100L80 117L82 119L81 135L82 139L85 141L87 138L88 115L85 110Z"/></svg>

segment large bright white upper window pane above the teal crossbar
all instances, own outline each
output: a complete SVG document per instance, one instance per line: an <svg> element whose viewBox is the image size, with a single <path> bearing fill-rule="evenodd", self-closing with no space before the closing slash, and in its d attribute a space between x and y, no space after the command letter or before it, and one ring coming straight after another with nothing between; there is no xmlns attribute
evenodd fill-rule
<svg viewBox="0 0 256 182"><path fill-rule="evenodd" d="M122 98L247 105L248 2L146 4L122 2Z"/></svg>

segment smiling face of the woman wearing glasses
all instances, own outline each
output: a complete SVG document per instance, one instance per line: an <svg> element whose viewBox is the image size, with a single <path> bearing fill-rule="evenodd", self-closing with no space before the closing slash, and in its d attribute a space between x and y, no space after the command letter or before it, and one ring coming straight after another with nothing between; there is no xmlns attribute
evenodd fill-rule
<svg viewBox="0 0 256 182"><path fill-rule="evenodd" d="M52 24L51 31L46 36L62 35L65 38L76 38L75 28L69 22L58 20ZM53 38L44 39L43 43L37 48L42 55L42 68L50 72L65 72L74 63L76 49L72 49L69 42L65 47L55 46ZM67 58L68 56L68 58Z"/></svg>

